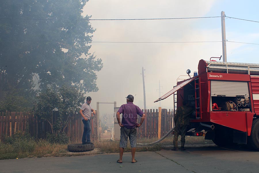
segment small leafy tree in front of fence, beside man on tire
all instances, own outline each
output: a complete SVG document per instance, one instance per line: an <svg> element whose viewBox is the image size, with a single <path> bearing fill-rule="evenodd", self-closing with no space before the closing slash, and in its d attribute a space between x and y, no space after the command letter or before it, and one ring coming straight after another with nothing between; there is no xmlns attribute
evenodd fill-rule
<svg viewBox="0 0 259 173"><path fill-rule="evenodd" d="M62 86L58 93L47 89L36 99L35 115L47 121L51 126L52 134L58 136L67 127L69 116L79 111L84 99L83 93L75 87Z"/></svg>

